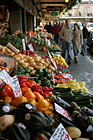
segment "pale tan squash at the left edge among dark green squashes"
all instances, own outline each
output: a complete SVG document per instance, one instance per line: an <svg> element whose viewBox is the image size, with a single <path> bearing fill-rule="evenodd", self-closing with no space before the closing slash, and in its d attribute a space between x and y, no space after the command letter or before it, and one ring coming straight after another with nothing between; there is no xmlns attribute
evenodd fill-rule
<svg viewBox="0 0 93 140"><path fill-rule="evenodd" d="M3 115L0 117L0 131L6 130L15 121L14 115Z"/></svg>

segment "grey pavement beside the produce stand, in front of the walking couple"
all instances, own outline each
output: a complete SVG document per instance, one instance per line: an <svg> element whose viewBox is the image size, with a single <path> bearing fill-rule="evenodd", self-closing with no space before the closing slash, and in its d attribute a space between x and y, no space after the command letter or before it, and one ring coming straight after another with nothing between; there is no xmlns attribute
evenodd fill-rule
<svg viewBox="0 0 93 140"><path fill-rule="evenodd" d="M93 56L88 53L87 56L79 54L78 63L69 65L69 71L77 82L84 81L89 92L93 94Z"/></svg>

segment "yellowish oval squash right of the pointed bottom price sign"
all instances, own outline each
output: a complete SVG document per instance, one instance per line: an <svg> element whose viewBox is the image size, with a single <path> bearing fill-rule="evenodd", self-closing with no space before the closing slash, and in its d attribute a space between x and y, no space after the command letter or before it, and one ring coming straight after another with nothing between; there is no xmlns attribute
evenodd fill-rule
<svg viewBox="0 0 93 140"><path fill-rule="evenodd" d="M66 127L66 131L68 132L71 138L79 138L81 136L80 129L76 127L72 127L72 126Z"/></svg>

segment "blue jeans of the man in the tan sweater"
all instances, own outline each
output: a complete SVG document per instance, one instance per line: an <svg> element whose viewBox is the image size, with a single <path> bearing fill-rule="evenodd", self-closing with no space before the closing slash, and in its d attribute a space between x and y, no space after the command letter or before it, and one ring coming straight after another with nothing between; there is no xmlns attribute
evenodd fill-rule
<svg viewBox="0 0 93 140"><path fill-rule="evenodd" d="M72 49L72 42L63 42L62 43L62 56L65 58L66 50L67 50L68 62L72 62L71 49Z"/></svg>

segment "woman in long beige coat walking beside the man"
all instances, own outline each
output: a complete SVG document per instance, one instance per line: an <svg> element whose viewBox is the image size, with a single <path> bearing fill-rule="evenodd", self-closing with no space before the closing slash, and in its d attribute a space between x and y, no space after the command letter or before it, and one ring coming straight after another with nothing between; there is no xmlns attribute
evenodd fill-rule
<svg viewBox="0 0 93 140"><path fill-rule="evenodd" d="M80 27L77 23L74 24L72 44L73 44L73 52L74 52L74 61L75 63L77 63L80 46L83 45L82 31L80 30Z"/></svg>

